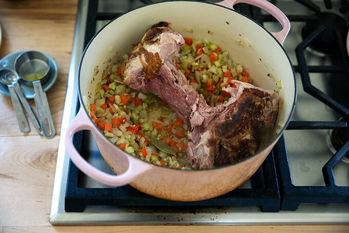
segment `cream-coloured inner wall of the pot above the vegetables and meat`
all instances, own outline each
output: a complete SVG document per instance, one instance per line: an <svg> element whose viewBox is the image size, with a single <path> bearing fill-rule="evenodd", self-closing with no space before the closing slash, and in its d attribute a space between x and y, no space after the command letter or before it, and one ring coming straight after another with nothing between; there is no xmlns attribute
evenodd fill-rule
<svg viewBox="0 0 349 233"><path fill-rule="evenodd" d="M112 58L112 62L122 61L122 56L131 51L145 31L160 21L170 22L172 29L184 37L207 39L228 50L230 58L243 65L257 86L278 89L276 82L281 80L282 88L278 91L284 101L276 133L285 126L293 109L296 89L292 66L284 50L257 23L236 11L214 4L158 3L135 9L109 23L88 45L83 55L79 77L81 95L93 99L94 85L109 64L106 61L109 58ZM91 83L96 66L99 74ZM83 100L85 104L89 101L87 98ZM270 137L275 137L275 132Z"/></svg>

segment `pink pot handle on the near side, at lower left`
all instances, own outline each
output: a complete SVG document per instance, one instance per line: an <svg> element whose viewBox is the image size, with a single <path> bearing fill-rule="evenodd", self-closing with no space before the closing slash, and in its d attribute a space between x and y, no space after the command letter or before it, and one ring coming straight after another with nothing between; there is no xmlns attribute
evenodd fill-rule
<svg viewBox="0 0 349 233"><path fill-rule="evenodd" d="M131 160L129 156L128 159L128 169L120 175L111 175L105 173L99 169L96 169L91 164L89 164L77 150L72 143L72 136L74 133L82 130L97 131L98 129L94 126L91 120L86 116L82 107L80 107L79 112L76 114L75 118L70 122L67 133L65 135L65 145L66 150L70 156L72 162L86 175L90 176L94 180L101 182L105 185L110 186L123 186L132 182L138 175L144 173L145 171L151 169L150 166L146 166L142 161ZM124 156L119 154L119 156Z"/></svg>

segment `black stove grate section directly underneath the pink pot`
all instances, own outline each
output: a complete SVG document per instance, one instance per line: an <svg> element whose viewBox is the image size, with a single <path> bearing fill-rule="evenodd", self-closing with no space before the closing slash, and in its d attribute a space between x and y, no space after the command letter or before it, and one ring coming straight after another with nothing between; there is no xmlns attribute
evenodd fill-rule
<svg viewBox="0 0 349 233"><path fill-rule="evenodd" d="M84 154L83 141L86 132L74 135L73 144L77 151ZM171 208L177 206L196 208L207 206L259 206L264 212L280 210L280 194L276 177L274 154L265 159L261 168L250 178L252 188L238 188L217 198L193 201L176 202L154 198L126 185L111 188L84 188L81 187L81 171L70 161L67 191L65 196L65 211L81 212L88 205L98 206L149 206Z"/></svg>

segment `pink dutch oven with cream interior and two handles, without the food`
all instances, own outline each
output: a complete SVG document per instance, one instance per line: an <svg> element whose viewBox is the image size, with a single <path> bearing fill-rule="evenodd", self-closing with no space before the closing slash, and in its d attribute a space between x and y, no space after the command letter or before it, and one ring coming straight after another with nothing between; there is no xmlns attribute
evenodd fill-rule
<svg viewBox="0 0 349 233"><path fill-rule="evenodd" d="M237 3L260 7L272 14L282 26L279 32L269 32L255 21L232 9ZM255 84L266 89L278 89L283 98L273 133L255 155L229 166L205 170L179 170L144 162L114 145L89 117L87 92L93 68L100 73L107 58L115 53L129 53L145 31L160 21L170 22L183 37L208 39L230 53L244 66ZM187 30L192 29L192 32ZM264 0L226 0L218 4L202 2L163 2L132 10L107 24L86 47L79 67L79 98L81 109L69 125L65 144L72 162L84 173L103 184L134 188L174 201L198 201L227 193L243 184L261 166L286 128L296 102L296 83L292 64L282 44L290 29L287 17ZM213 33L207 33L210 30ZM114 59L114 58L113 58ZM100 78L100 74L95 79ZM280 80L282 87L278 88ZM97 147L108 166L118 175L110 175L90 165L76 151L71 138L77 131L91 131Z"/></svg>

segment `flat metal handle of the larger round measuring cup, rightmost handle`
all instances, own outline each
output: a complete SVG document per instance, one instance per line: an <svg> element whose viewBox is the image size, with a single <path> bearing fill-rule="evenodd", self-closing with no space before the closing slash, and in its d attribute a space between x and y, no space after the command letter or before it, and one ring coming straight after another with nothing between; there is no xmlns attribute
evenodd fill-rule
<svg viewBox="0 0 349 233"><path fill-rule="evenodd" d="M51 138L55 135L55 129L47 96L43 91L40 80L33 81L33 88L35 92L34 101L38 118L40 120L41 129L43 130L45 137Z"/></svg>

